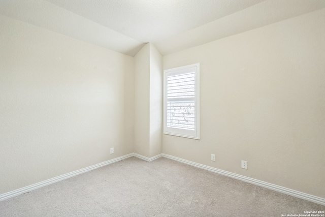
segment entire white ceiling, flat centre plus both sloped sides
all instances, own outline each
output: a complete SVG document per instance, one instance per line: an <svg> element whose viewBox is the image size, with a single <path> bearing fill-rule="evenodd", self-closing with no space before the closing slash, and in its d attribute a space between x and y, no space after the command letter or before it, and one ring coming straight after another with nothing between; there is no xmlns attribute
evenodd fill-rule
<svg viewBox="0 0 325 217"><path fill-rule="evenodd" d="M169 54L325 7L325 0L0 0L0 14L134 56Z"/></svg>

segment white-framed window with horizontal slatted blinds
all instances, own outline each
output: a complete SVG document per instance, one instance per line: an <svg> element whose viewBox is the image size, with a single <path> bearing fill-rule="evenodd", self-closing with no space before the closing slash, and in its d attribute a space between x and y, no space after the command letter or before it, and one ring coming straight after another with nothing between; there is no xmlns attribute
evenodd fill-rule
<svg viewBox="0 0 325 217"><path fill-rule="evenodd" d="M200 139L200 64L164 71L164 134Z"/></svg>

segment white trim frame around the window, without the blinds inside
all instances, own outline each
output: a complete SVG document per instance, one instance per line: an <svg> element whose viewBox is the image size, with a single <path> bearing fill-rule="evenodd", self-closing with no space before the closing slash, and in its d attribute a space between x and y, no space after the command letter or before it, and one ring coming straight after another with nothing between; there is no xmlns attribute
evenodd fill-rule
<svg viewBox="0 0 325 217"><path fill-rule="evenodd" d="M181 74L182 72L186 72L190 68L196 68L195 72L195 126L194 131L185 130L185 129L177 129L177 128L168 128L167 127L167 74ZM200 140L200 63L192 64L183 67L177 67L173 69L164 70L164 134L186 137L191 139Z"/></svg>

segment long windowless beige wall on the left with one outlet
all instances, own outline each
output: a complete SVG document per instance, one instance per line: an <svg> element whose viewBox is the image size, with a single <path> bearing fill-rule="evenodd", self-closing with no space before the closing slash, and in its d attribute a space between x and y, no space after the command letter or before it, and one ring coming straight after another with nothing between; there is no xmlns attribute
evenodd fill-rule
<svg viewBox="0 0 325 217"><path fill-rule="evenodd" d="M132 151L133 57L5 16L0 29L0 194Z"/></svg>

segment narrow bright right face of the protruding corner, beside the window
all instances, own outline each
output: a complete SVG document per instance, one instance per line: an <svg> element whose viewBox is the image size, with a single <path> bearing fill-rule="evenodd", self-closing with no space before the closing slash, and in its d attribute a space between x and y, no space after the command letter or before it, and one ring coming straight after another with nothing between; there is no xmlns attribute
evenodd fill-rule
<svg viewBox="0 0 325 217"><path fill-rule="evenodd" d="M150 157L161 153L163 133L163 74L162 57L150 44Z"/></svg>

